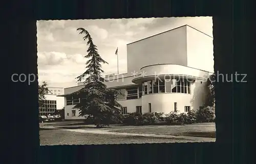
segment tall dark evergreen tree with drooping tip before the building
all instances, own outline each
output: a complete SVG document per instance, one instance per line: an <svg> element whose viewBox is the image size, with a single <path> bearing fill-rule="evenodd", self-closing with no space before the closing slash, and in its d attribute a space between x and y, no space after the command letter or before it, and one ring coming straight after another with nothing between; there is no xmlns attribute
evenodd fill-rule
<svg viewBox="0 0 256 164"><path fill-rule="evenodd" d="M83 40L88 40L88 55L84 58L89 59L86 62L87 70L76 79L78 82L84 81L84 87L72 95L80 98L80 103L73 108L79 110L79 116L92 119L97 127L100 125L109 125L111 122L120 121L121 105L116 101L120 92L116 89L108 89L103 83L104 78L101 74L101 63L108 64L103 60L97 50L97 46L93 43L93 39L89 32L83 28L78 28L79 34L85 34Z"/></svg>

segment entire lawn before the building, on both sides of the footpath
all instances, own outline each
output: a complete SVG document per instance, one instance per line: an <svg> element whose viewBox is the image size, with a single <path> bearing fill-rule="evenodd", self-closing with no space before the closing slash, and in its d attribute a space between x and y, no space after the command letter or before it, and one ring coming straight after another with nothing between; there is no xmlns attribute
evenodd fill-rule
<svg viewBox="0 0 256 164"><path fill-rule="evenodd" d="M57 126L55 126L57 125ZM62 125L62 126L61 126ZM197 126L199 125L199 126ZM118 126L111 125L104 128L95 129L94 125L67 125L46 124L56 127L57 129L41 129L40 144L41 145L84 145L84 144L143 144L143 143L184 143L184 142L205 142L204 139L178 139L166 137L151 137L151 136L129 136L118 134L92 134L82 132L67 131L67 129L81 130L103 130L109 132L126 132L126 133L141 133L141 134L163 134L163 135L185 135L196 137L211 137L212 142L215 138L215 126L208 124L197 124L186 126ZM211 125L214 125L211 123ZM209 141L208 141L209 142Z"/></svg>

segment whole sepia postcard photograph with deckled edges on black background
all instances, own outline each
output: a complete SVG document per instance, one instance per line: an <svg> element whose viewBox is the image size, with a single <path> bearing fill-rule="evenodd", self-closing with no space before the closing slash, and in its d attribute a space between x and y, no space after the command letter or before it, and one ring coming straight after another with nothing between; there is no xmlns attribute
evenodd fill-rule
<svg viewBox="0 0 256 164"><path fill-rule="evenodd" d="M212 17L38 20L37 57L40 145L216 140Z"/></svg>

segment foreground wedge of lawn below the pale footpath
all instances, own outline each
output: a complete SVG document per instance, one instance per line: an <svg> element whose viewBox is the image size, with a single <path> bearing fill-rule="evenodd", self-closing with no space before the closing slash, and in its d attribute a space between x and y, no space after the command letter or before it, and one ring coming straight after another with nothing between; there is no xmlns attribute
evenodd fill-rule
<svg viewBox="0 0 256 164"><path fill-rule="evenodd" d="M111 134L90 134L70 132L60 129L40 130L41 145L91 145L91 144L144 144L144 143L184 143L188 139L173 139L144 136L121 136Z"/></svg>

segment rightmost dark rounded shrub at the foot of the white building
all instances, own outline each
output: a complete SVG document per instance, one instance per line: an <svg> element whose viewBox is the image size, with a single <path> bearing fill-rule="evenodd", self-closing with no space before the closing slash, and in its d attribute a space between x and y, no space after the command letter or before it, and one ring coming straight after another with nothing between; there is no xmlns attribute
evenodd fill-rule
<svg viewBox="0 0 256 164"><path fill-rule="evenodd" d="M209 123L215 121L215 108L214 107L204 107L199 109L196 112L197 115L197 121L199 123Z"/></svg>

